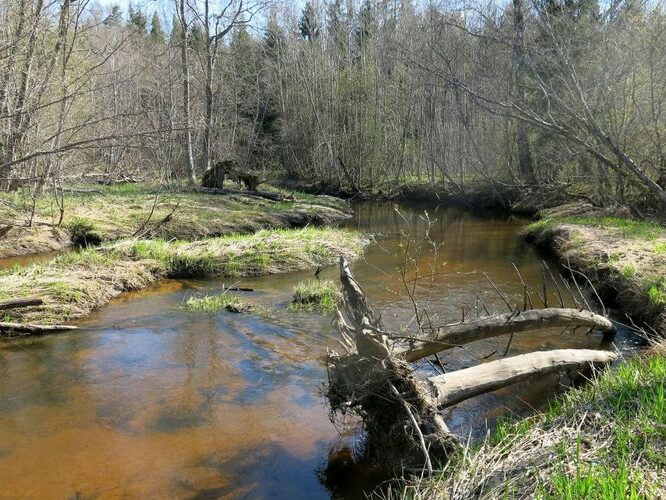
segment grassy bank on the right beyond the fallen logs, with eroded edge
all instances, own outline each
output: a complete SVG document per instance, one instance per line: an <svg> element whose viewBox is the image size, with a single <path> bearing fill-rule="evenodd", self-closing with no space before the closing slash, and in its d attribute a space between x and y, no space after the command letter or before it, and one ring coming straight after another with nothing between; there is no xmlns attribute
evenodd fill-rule
<svg viewBox="0 0 666 500"><path fill-rule="evenodd" d="M527 239L584 273L602 299L666 335L666 227L607 215L545 212Z"/></svg>

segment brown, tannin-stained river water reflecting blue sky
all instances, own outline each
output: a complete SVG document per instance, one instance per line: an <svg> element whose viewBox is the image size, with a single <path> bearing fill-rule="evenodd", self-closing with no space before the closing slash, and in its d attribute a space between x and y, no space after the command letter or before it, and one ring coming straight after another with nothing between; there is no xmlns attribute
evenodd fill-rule
<svg viewBox="0 0 666 500"><path fill-rule="evenodd" d="M427 208L432 237L443 243L420 260L422 273L443 263L428 304L436 322L460 319L477 295L504 312L484 272L514 303L522 303L522 287L511 263L540 283L541 257L518 236L525 220ZM355 209L348 226L376 243L352 269L386 327L399 329L411 303L395 253L401 232L423 233L423 207L400 207L406 221L390 204ZM239 282L255 289L247 298L264 306L260 315L184 311L187 297L217 292L223 281L169 281L122 296L79 331L0 343L0 496L362 497L384 477L346 460L361 434L340 437L328 419L321 358L337 345L331 318L286 310L293 287L311 276ZM337 269L322 276L336 279ZM497 359L506 341L453 349L442 361L456 369ZM632 347L623 332L614 343ZM516 336L509 354L561 347L613 348L601 336L544 330ZM560 386L552 377L497 391L446 419L479 438L499 417L543 407Z"/></svg>

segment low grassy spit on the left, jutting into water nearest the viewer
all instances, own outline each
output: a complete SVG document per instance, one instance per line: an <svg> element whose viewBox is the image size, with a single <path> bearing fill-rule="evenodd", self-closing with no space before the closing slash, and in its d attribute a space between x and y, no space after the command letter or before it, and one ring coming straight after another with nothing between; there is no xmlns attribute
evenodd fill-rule
<svg viewBox="0 0 666 500"><path fill-rule="evenodd" d="M263 230L195 242L121 241L0 272L0 300L38 296L39 307L7 312L5 321L63 323L89 314L122 292L164 278L254 276L354 259L364 239L340 229Z"/></svg>

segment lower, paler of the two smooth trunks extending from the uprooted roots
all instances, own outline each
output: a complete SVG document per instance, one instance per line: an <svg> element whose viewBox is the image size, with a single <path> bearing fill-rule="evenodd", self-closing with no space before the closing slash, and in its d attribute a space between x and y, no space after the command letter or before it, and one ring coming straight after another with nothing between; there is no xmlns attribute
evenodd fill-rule
<svg viewBox="0 0 666 500"><path fill-rule="evenodd" d="M584 371L617 356L608 351L556 349L484 363L429 378L440 408L541 375L565 370Z"/></svg>

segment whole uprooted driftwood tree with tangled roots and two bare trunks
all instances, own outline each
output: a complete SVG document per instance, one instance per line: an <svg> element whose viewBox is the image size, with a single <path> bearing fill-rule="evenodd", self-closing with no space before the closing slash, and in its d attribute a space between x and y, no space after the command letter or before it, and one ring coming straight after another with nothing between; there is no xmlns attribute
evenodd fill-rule
<svg viewBox="0 0 666 500"><path fill-rule="evenodd" d="M465 399L560 371L585 372L615 359L615 354L585 349L535 352L491 361L435 377L418 376L410 361L451 347L542 327L612 329L610 321L589 311L516 311L436 329L429 337L405 339L387 332L373 312L348 263L340 259L343 307L338 328L345 352L328 355L327 397L333 414L359 416L372 458L397 467L432 472L431 457L444 459L457 449L441 410Z"/></svg>

